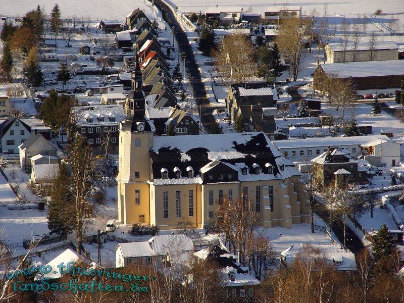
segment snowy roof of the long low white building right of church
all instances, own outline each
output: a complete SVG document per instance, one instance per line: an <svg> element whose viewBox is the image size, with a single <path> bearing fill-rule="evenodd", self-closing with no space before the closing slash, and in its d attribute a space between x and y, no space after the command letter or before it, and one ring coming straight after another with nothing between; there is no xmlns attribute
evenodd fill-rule
<svg viewBox="0 0 404 303"><path fill-rule="evenodd" d="M272 143L279 149L307 147L340 147L340 145L378 145L382 142L394 142L386 135L354 137L322 137L306 139L275 140Z"/></svg>

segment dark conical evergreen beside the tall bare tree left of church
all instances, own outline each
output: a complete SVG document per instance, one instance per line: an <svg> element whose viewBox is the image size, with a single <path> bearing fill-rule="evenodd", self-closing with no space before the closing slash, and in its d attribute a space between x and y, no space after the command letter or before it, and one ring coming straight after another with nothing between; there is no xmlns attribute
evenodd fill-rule
<svg viewBox="0 0 404 303"><path fill-rule="evenodd" d="M65 164L61 164L58 177L51 190L51 204L47 216L47 226L51 234L69 234L72 220L64 215L64 209L71 204L69 194L69 173Z"/></svg>

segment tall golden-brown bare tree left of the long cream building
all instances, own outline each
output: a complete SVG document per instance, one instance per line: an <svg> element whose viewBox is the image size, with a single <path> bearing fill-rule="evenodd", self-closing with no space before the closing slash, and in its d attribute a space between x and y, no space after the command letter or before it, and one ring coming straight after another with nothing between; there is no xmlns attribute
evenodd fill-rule
<svg viewBox="0 0 404 303"><path fill-rule="evenodd" d="M300 63L304 56L304 46L306 37L306 26L302 25L297 18L286 19L276 37L277 43L285 60L290 64L293 73L293 81L297 80L297 75L301 69Z"/></svg>

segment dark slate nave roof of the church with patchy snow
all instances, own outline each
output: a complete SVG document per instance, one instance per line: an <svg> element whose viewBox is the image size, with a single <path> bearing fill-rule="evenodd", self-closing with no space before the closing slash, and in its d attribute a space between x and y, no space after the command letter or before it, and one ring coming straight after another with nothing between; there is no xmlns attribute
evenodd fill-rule
<svg viewBox="0 0 404 303"><path fill-rule="evenodd" d="M276 175L279 173L276 159L282 155L267 135L252 132L154 137L150 158L155 178L160 178L162 168L168 170L169 178L174 178L175 167L185 172L191 166L199 172L215 160L235 169L239 165L246 166L251 174L254 173L254 163L260 168L270 163Z"/></svg>

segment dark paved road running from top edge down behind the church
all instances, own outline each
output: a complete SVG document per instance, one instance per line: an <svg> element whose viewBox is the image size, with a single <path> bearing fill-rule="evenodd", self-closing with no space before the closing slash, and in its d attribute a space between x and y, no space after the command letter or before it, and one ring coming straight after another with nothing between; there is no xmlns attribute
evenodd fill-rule
<svg viewBox="0 0 404 303"><path fill-rule="evenodd" d="M173 28L173 26L175 27L174 35L180 48L180 52L186 54L186 61L188 62L186 67L190 73L190 82L193 87L195 102L201 107L201 121L204 125L209 125L213 121L213 117L211 115L212 110L205 108L205 106L209 104L209 100L206 96L205 85L201 81L198 65L196 63L195 56L193 55L192 47L189 44L188 38L182 31L170 8L160 0L156 0L155 5L162 12L164 21L166 21L171 28Z"/></svg>

